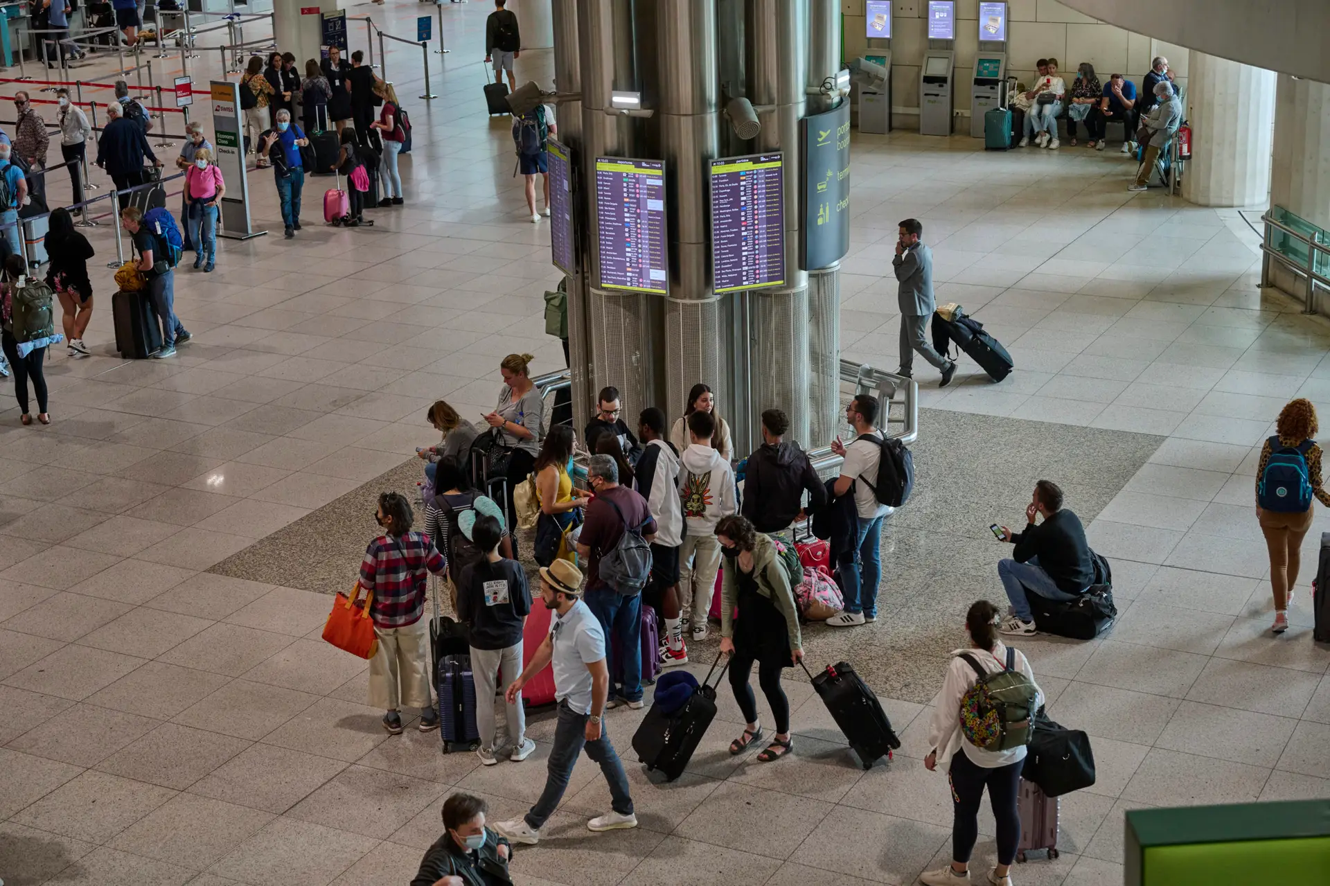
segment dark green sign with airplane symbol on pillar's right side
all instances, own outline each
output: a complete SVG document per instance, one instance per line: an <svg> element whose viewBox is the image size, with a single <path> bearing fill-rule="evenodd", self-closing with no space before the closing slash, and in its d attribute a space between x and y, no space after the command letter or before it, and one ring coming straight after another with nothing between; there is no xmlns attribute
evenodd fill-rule
<svg viewBox="0 0 1330 886"><path fill-rule="evenodd" d="M803 242L799 267L817 270L850 251L850 102L805 117Z"/></svg>

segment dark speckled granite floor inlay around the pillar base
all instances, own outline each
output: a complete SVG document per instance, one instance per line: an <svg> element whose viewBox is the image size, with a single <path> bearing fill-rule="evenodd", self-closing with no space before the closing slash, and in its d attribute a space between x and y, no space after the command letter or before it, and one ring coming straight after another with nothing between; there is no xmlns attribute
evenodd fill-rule
<svg viewBox="0 0 1330 886"><path fill-rule="evenodd" d="M805 648L818 666L845 659L879 693L927 704L947 652L964 640L966 608L982 597L1004 603L996 564L1011 548L988 525L1017 525L1041 478L1063 487L1067 507L1088 525L1164 438L946 410L920 410L919 422L915 492L882 539L876 624L811 625ZM379 492L396 490L419 502L420 478L420 460L408 459L209 571L322 593L346 591L378 531L372 514ZM420 508L416 516L419 525ZM714 632L700 647L690 653L709 661ZM787 673L803 678L799 670Z"/></svg>

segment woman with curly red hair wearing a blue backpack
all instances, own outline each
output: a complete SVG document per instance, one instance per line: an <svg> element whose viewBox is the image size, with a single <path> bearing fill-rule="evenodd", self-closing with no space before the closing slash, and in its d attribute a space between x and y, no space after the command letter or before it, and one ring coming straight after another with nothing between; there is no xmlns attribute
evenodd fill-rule
<svg viewBox="0 0 1330 886"><path fill-rule="evenodd" d="M1277 434L1261 447L1256 470L1256 516L1270 551L1270 588L1274 592L1271 633L1289 629L1289 604L1298 583L1302 536L1311 528L1311 496L1330 506L1330 492L1321 486L1321 447L1317 408L1303 398L1279 410Z"/></svg>

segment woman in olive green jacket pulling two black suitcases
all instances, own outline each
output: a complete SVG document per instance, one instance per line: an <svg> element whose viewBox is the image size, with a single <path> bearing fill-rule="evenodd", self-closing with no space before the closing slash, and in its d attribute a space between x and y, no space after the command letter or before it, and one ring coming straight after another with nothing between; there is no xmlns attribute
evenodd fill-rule
<svg viewBox="0 0 1330 886"><path fill-rule="evenodd" d="M759 762L771 762L790 753L790 702L781 688L781 670L803 660L799 612L790 579L771 539L753 528L747 517L732 515L716 524L716 536L725 555L725 581L721 585L721 652L730 653L730 688L743 712L747 728L730 742L739 754L762 738L757 698L749 673L757 663L757 680L775 717L775 734L761 752Z"/></svg>

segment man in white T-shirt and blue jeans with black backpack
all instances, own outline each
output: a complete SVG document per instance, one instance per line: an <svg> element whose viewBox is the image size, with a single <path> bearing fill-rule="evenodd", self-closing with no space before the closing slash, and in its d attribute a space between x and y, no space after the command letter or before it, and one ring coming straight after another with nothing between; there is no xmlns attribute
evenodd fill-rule
<svg viewBox="0 0 1330 886"><path fill-rule="evenodd" d="M882 543L882 520L891 512L891 508L878 502L872 491L878 482L878 463L882 460L882 447L872 442L882 439L882 431L875 426L878 408L878 398L858 394L845 407L845 418L854 427L855 439L845 444L837 438L831 443L831 451L845 459L833 491L842 496L853 487L858 515L854 545L837 557L845 611L827 619L833 628L850 628L878 620L878 584L882 580L878 549Z"/></svg>

